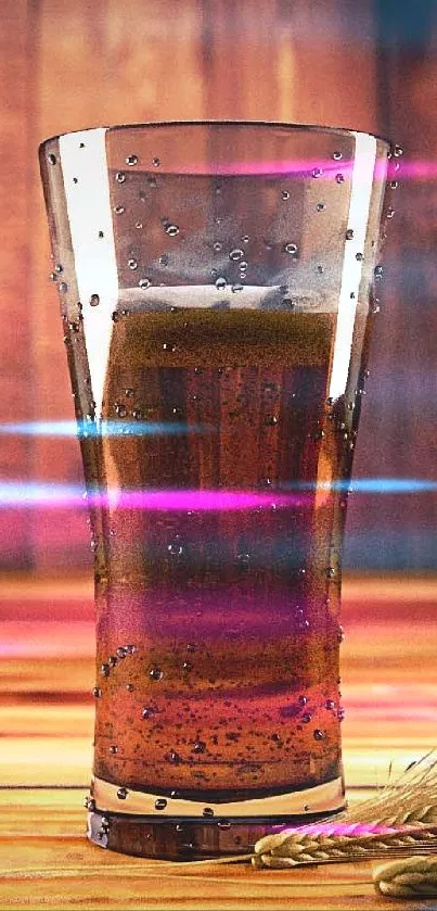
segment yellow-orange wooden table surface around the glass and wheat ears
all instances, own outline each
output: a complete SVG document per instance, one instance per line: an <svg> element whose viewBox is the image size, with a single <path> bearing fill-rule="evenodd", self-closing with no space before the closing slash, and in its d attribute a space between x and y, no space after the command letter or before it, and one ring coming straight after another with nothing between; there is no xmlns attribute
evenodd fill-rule
<svg viewBox="0 0 437 911"><path fill-rule="evenodd" d="M349 579L342 651L350 801L437 746L437 579ZM168 865L83 836L92 757L91 581L0 578L0 911L393 909L372 864L293 871ZM378 861L381 862L381 861Z"/></svg>

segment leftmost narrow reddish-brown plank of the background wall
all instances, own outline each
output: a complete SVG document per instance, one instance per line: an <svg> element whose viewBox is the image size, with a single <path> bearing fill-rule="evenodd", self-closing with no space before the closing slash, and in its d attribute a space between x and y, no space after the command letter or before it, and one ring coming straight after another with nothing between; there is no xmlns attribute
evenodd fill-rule
<svg viewBox="0 0 437 911"><path fill-rule="evenodd" d="M33 417L29 256L29 131L31 116L29 37L25 0L5 0L0 31L0 422ZM27 365L25 368L24 365ZM0 439L0 478L25 480L30 469L23 436ZM22 510L0 509L1 562L25 569L29 562L28 519Z"/></svg>

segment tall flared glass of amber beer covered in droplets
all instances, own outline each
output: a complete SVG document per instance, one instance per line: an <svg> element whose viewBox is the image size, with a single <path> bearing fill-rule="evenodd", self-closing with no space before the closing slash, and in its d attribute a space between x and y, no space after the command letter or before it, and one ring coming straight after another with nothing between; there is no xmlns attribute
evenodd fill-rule
<svg viewBox="0 0 437 911"><path fill-rule="evenodd" d="M218 121L41 145L94 551L101 847L242 853L344 806L342 539L390 154Z"/></svg>

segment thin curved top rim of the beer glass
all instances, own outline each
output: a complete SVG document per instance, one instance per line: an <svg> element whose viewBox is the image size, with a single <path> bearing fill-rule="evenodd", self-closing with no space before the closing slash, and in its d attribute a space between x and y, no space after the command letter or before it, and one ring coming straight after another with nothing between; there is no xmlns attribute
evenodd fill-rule
<svg viewBox="0 0 437 911"><path fill-rule="evenodd" d="M373 137L380 142L383 142L387 150L390 151L394 147L394 142L387 137L380 136L375 132L368 132L367 130L359 130L359 129L350 129L348 127L332 127L332 126L324 126L322 124L303 124L303 123L291 123L286 121L240 121L240 119L182 119L182 121L150 121L144 123L132 123L132 124L113 124L110 125L100 125L93 127L85 127L83 129L76 129L76 130L67 130L66 132L54 134L53 136L49 136L47 139L42 140L39 144L39 149L43 151L49 143L60 140L64 136L75 136L83 135L87 132L91 132L95 129L104 129L107 132L121 132L128 130L154 130L159 129L162 127L258 127L258 128L279 128L283 129L284 131L290 130L290 132L320 132L320 134L331 134L334 136L369 136Z"/></svg>

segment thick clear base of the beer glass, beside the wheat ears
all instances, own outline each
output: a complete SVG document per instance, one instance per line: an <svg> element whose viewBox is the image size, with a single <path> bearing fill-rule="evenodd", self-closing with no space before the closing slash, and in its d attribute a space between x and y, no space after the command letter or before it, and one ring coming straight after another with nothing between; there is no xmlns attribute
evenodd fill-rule
<svg viewBox="0 0 437 911"><path fill-rule="evenodd" d="M160 801L165 802L165 798L157 795L141 796L144 800L153 798L158 806ZM188 812L177 815L171 808L173 801L168 798L167 800L164 808L167 810L166 815L157 817L156 811L153 814L142 814L120 813L113 808L98 809L92 798L92 804L89 801L92 809L88 814L88 838L101 848L136 857L176 861L206 860L253 853L256 842L262 836L281 832L290 825L317 822L345 807L342 779L306 790L256 800L258 807L265 804L266 809L269 809L267 805L274 800L277 808L284 810L266 815L247 814L247 804L252 801L235 804L237 814L232 815L224 814L217 805L205 807L205 802L178 801L179 805L191 805L191 815L188 815ZM279 806L279 801L282 807ZM105 802L111 804L111 798ZM246 815L242 815L244 804ZM295 805L296 809L299 804L301 811L287 812L287 804ZM227 810L230 806L226 805ZM180 806L178 809L180 810ZM211 813L211 817L206 817L205 811Z"/></svg>

